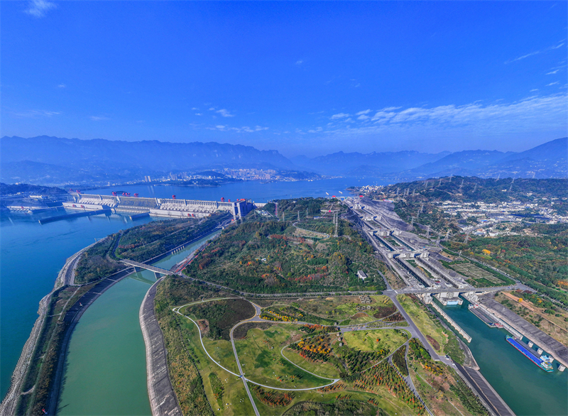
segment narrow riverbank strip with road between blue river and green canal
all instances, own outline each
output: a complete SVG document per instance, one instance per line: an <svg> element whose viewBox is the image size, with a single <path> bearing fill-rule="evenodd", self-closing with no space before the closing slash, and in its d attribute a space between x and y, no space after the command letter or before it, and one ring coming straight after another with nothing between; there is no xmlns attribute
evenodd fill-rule
<svg viewBox="0 0 568 416"><path fill-rule="evenodd" d="M158 261L182 250L185 246L212 234L214 229L207 231L207 235L200 234L180 246L155 256L151 261ZM48 414L55 414L67 346L77 322L94 300L119 280L133 273L132 268L126 268L97 282L75 285L74 272L77 263L82 253L91 246L93 244L82 248L67 259L58 273L52 291L40 302L38 312L40 317L36 319L21 352L9 391L0 404L0 415L26 412L30 406L33 406L33 410L45 409ZM38 364L32 368L31 363L35 361Z"/></svg>

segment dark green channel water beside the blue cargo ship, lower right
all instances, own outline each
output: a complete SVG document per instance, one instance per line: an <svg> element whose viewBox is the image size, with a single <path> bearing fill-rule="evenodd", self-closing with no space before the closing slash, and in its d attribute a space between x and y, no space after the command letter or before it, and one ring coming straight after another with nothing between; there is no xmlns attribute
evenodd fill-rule
<svg viewBox="0 0 568 416"><path fill-rule="evenodd" d="M488 327L467 305L442 308L471 336L469 349L481 373L511 410L517 416L568 415L568 371L541 370L508 344L505 329Z"/></svg>

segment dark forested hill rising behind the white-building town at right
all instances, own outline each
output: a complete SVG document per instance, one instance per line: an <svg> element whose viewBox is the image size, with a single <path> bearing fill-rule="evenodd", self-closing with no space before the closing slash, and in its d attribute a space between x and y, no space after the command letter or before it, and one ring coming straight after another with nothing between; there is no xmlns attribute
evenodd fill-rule
<svg viewBox="0 0 568 416"><path fill-rule="evenodd" d="M455 202L521 202L542 198L568 197L568 179L482 179L479 177L442 177L388 185L372 192L375 197L395 195L427 201Z"/></svg>

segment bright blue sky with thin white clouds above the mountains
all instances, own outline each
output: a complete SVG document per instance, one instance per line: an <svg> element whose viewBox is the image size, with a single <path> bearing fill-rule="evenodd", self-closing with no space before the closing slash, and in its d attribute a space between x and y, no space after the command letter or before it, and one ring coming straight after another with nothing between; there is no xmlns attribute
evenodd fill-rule
<svg viewBox="0 0 568 416"><path fill-rule="evenodd" d="M566 1L4 1L1 135L287 156L567 136Z"/></svg>

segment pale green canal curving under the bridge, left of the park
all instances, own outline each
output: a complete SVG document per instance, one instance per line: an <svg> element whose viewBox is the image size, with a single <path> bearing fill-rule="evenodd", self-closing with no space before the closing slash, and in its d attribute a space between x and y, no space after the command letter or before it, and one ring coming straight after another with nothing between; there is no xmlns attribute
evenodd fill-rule
<svg viewBox="0 0 568 416"><path fill-rule="evenodd" d="M210 238L154 264L169 269ZM71 336L58 415L151 415L138 312L154 282L151 271L135 273L84 312Z"/></svg>

